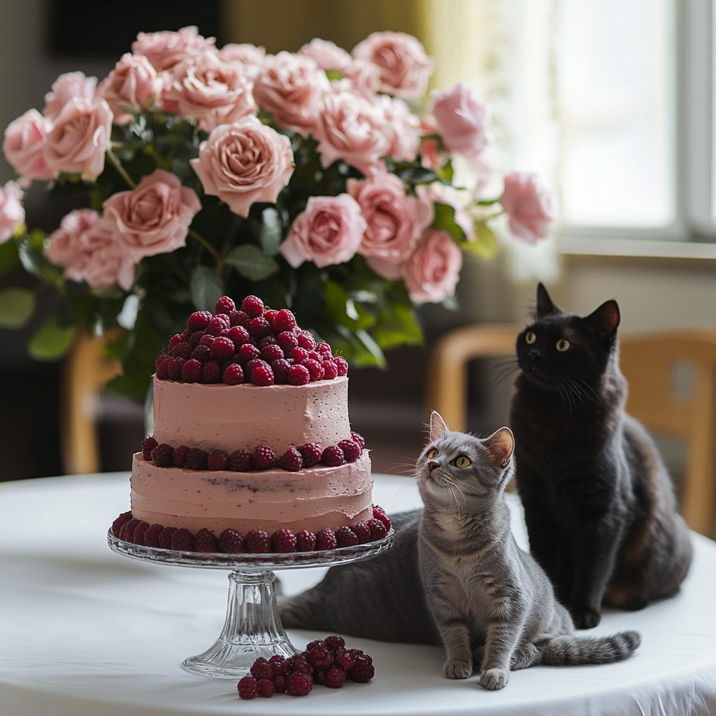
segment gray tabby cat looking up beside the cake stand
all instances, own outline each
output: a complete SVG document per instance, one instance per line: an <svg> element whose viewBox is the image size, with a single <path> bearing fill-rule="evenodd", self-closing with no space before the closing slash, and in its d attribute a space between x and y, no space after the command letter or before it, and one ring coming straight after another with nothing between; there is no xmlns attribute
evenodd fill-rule
<svg viewBox="0 0 716 716"><path fill-rule="evenodd" d="M450 432L437 412L417 461L425 508L397 515L392 550L334 567L320 584L281 599L284 627L390 642L443 644L450 679L480 664L480 684L503 688L511 669L627 659L638 632L574 637L567 610L510 528L505 485L514 440Z"/></svg>

